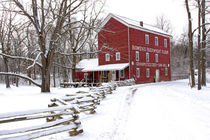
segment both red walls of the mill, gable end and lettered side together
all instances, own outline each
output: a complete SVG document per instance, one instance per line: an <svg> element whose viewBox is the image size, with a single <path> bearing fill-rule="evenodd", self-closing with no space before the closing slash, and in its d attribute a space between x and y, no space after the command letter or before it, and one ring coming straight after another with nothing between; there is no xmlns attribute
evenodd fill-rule
<svg viewBox="0 0 210 140"><path fill-rule="evenodd" d="M149 35L149 44L145 44L145 34ZM158 37L158 46L155 46L155 37ZM130 40L129 42L128 39ZM167 48L164 47L164 39L167 39ZM102 46L107 46L109 49L102 49ZM133 46L140 48L138 50L140 54L138 62L136 62L136 50ZM98 54L99 65L130 63L130 67L125 69L125 77L135 78L136 83L154 82L157 69L159 69L160 81L171 80L170 38L168 36L128 28L111 18L104 25L103 30L98 33L98 49L102 50ZM116 52L120 52L120 61L116 61ZM149 52L149 62L146 62L146 52ZM106 53L111 55L110 61L105 61ZM155 54L158 54L157 63L155 62ZM132 61L134 65L132 65ZM136 77L136 68L140 68L140 78ZM148 78L146 77L147 68L150 68L150 76ZM165 76L165 68L168 68L167 76ZM84 73L82 73L83 77ZM95 76L95 78L99 77Z"/></svg>

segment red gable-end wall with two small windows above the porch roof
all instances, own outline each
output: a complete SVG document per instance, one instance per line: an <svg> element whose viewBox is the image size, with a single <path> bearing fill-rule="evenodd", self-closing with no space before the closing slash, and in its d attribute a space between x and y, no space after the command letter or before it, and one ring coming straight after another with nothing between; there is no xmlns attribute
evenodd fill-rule
<svg viewBox="0 0 210 140"><path fill-rule="evenodd" d="M99 65L128 63L128 27L111 18L98 34L98 49L107 46L99 53ZM120 60L116 61L116 52L120 52ZM110 53L110 61L105 61L105 54Z"/></svg>

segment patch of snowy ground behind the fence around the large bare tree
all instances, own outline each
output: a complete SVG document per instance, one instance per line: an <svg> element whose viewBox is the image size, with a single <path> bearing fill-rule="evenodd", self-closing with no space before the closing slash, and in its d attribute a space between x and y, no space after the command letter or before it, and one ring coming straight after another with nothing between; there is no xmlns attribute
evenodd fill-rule
<svg viewBox="0 0 210 140"><path fill-rule="evenodd" d="M51 93L41 93L36 86L11 86L6 89L0 84L0 113L46 108L50 99L75 94L79 90L89 91L89 88L51 88Z"/></svg>

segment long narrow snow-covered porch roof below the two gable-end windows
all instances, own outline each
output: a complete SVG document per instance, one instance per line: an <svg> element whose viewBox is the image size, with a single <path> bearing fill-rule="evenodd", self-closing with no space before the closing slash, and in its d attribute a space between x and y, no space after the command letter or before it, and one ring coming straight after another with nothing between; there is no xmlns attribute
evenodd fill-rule
<svg viewBox="0 0 210 140"><path fill-rule="evenodd" d="M97 67L88 67L84 68L82 71L110 71L110 70L123 70L129 66L129 63L120 63L120 64L107 64L107 65L100 65Z"/></svg>

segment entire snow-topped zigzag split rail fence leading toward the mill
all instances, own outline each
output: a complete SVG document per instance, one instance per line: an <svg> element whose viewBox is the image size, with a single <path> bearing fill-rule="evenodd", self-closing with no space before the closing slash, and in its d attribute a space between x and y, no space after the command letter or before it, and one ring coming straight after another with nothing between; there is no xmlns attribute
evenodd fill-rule
<svg viewBox="0 0 210 140"><path fill-rule="evenodd" d="M35 139L63 131L67 131L70 136L78 135L83 132L79 120L80 113L94 114L101 100L108 94L112 94L116 87L133 84L135 82L132 79L110 82L100 87L91 87L89 92L79 92L76 95L66 94L64 97L51 99L51 103L46 109L0 114L0 124L5 124L8 128L7 130L0 130L0 139ZM45 121L40 125L14 129L18 125L17 122L37 119L44 119Z"/></svg>

